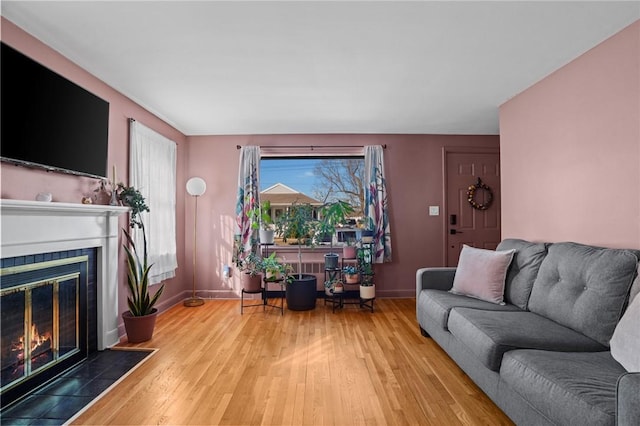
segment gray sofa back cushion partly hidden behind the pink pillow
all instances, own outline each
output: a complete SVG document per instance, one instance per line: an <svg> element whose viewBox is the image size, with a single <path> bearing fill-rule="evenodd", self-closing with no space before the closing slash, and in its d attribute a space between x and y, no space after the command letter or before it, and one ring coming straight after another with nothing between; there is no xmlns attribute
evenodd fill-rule
<svg viewBox="0 0 640 426"><path fill-rule="evenodd" d="M504 301L527 309L533 282L542 260L547 255L547 245L507 238L498 244L497 251L515 250L504 286Z"/></svg>

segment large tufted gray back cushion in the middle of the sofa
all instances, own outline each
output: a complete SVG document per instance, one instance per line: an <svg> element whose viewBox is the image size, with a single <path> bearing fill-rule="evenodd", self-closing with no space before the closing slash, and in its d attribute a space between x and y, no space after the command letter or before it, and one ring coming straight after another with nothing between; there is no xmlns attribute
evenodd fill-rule
<svg viewBox="0 0 640 426"><path fill-rule="evenodd" d="M533 283L529 310L608 345L637 263L629 250L552 244Z"/></svg>

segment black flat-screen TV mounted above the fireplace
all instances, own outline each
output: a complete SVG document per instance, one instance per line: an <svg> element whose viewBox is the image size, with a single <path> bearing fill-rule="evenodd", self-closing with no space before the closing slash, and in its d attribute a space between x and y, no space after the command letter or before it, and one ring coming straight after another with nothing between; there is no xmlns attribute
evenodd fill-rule
<svg viewBox="0 0 640 426"><path fill-rule="evenodd" d="M0 43L2 161L107 176L109 103Z"/></svg>

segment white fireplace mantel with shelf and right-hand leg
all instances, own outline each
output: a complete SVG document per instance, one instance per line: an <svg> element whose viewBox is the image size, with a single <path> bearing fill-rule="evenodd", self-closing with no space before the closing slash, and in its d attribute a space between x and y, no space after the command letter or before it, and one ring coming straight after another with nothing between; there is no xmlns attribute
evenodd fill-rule
<svg viewBox="0 0 640 426"><path fill-rule="evenodd" d="M129 209L0 200L0 210L2 258L97 249L98 349L118 343L118 216Z"/></svg>

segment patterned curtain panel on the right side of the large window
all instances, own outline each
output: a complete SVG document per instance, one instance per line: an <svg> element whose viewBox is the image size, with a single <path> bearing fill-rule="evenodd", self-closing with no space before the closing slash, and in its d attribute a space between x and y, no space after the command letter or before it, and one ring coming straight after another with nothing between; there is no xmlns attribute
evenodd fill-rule
<svg viewBox="0 0 640 426"><path fill-rule="evenodd" d="M384 151L380 145L364 147L365 217L373 230L374 263L391 262L391 228L384 176Z"/></svg>

